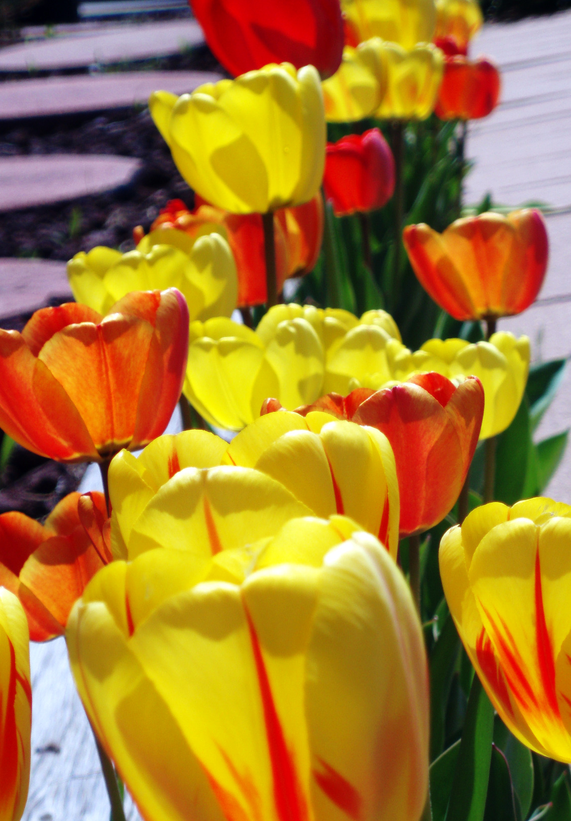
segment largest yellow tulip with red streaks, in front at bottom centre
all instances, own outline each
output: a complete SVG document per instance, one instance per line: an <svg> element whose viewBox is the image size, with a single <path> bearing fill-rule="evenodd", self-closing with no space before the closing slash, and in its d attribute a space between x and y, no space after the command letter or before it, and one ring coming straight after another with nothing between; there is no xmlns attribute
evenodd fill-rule
<svg viewBox="0 0 571 821"><path fill-rule="evenodd" d="M289 521L213 559L112 562L66 638L89 719L148 821L418 821L422 629L395 562L349 520Z"/></svg>

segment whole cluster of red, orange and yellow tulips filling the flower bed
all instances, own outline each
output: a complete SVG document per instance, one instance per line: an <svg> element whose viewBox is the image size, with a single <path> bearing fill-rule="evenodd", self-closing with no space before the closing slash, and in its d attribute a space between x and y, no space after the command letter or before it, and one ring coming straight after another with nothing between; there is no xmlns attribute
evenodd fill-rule
<svg viewBox="0 0 571 821"><path fill-rule="evenodd" d="M402 137L496 105L496 69L466 57L477 2L192 5L236 79L149 107L194 209L75 256L76 302L0 331L0 427L98 462L104 488L43 524L0 516L0 819L28 791L29 640L60 635L114 821L121 780L148 821L524 818L525 784L519 815L486 801L494 709L529 760L571 762L571 507L494 501L530 365L496 321L541 288L541 214L404 229L419 282L479 342L412 351L384 310L279 301L331 241L331 204L379 209L402 179L379 129L326 144L326 119ZM185 429L162 435L177 403ZM423 626L436 525L445 599Z"/></svg>

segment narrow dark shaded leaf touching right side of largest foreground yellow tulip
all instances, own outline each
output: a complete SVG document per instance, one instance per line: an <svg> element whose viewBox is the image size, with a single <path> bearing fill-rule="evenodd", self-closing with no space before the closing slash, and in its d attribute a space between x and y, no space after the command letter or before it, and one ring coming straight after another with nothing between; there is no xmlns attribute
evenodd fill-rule
<svg viewBox="0 0 571 821"><path fill-rule="evenodd" d="M432 647L430 655L430 694L431 694L431 730L430 758L437 758L444 747L445 710L450 695L450 685L454 675L460 649L458 631L456 631L450 612L445 617L444 625L438 640Z"/></svg>

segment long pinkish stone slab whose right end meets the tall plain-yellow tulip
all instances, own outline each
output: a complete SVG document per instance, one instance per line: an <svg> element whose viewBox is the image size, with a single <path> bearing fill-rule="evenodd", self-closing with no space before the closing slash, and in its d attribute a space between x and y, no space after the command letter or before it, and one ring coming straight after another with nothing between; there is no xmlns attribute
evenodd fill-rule
<svg viewBox="0 0 571 821"><path fill-rule="evenodd" d="M129 108L146 104L157 89L185 94L220 79L202 71L128 71L9 80L0 84L0 121Z"/></svg>

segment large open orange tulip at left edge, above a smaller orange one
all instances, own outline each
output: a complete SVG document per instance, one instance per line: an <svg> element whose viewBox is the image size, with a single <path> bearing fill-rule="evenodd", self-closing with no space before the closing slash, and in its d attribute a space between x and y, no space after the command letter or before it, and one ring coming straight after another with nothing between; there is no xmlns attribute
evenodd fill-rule
<svg viewBox="0 0 571 821"><path fill-rule="evenodd" d="M106 461L167 427L189 314L176 288L132 293L106 317L75 302L0 330L0 427L40 456Z"/></svg>

